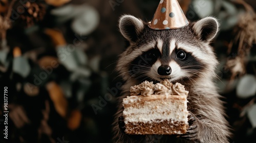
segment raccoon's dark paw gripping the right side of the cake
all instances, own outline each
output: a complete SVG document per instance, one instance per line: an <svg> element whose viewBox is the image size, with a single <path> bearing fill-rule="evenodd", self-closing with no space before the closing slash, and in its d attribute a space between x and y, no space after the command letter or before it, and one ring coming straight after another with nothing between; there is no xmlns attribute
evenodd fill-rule
<svg viewBox="0 0 256 143"><path fill-rule="evenodd" d="M198 138L198 132L201 126L198 118L191 112L188 112L188 124L187 132L181 134L180 137L186 140L196 140Z"/></svg>

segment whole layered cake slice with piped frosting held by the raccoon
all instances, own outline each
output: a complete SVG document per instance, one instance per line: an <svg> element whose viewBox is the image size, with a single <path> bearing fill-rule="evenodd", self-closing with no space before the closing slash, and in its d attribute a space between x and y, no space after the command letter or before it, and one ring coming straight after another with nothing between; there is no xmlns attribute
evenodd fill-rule
<svg viewBox="0 0 256 143"><path fill-rule="evenodd" d="M131 96L123 99L125 133L186 133L187 94L183 85L173 85L168 80L132 86Z"/></svg>

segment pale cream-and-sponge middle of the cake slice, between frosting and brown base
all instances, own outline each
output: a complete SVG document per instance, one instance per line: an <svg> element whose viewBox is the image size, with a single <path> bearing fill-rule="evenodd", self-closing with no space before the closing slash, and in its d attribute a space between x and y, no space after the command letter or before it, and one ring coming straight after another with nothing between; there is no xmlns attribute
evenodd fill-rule
<svg viewBox="0 0 256 143"><path fill-rule="evenodd" d="M151 123L174 120L187 123L186 96L152 95L131 96L123 99L124 123Z"/></svg>

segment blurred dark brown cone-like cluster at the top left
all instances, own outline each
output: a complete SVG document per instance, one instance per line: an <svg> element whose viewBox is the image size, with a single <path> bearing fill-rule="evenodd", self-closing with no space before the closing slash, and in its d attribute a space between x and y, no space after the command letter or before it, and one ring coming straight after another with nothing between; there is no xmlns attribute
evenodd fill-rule
<svg viewBox="0 0 256 143"><path fill-rule="evenodd" d="M27 2L25 4L25 8L25 12L20 15L20 17L26 22L27 27L30 27L34 25L35 22L42 20L46 13L46 9L43 4Z"/></svg>

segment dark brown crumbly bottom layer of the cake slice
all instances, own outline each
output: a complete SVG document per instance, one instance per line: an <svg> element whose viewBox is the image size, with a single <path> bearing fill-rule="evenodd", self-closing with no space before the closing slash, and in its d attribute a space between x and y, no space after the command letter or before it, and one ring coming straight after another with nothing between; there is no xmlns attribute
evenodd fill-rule
<svg viewBox="0 0 256 143"><path fill-rule="evenodd" d="M151 123L128 122L125 124L126 134L184 134L187 124L182 121L164 120Z"/></svg>

